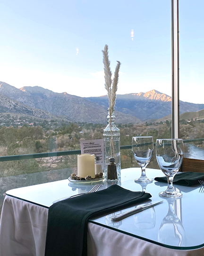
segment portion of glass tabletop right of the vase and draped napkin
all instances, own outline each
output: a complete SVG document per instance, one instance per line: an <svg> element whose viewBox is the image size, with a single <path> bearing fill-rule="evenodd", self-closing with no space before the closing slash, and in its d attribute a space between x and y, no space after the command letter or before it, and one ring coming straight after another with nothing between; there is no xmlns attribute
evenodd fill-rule
<svg viewBox="0 0 204 256"><path fill-rule="evenodd" d="M122 187L132 191L149 192L152 201L163 200L163 203L119 222L113 222L110 218L127 209L90 222L168 248L187 250L204 247L204 193L199 192L201 186L176 185L175 189L182 192L183 197L176 200L164 199L158 193L166 189L166 183L134 183L134 178L139 175L138 170L128 169L126 180L122 177ZM163 175L159 170L147 169L147 176L154 178Z"/></svg>

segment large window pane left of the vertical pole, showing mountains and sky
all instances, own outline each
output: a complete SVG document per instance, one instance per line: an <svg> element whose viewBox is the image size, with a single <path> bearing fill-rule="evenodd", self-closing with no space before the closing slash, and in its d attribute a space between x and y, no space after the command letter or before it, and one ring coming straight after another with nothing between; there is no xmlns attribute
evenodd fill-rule
<svg viewBox="0 0 204 256"><path fill-rule="evenodd" d="M170 1L2 0L0 17L1 156L77 150L80 140L102 138L105 44L112 73L121 62L120 145L171 137ZM121 150L121 166L137 166L130 149ZM155 153L148 167L157 168ZM76 171L76 155L2 160L3 193L64 179L64 170ZM20 182L25 175L30 182Z"/></svg>

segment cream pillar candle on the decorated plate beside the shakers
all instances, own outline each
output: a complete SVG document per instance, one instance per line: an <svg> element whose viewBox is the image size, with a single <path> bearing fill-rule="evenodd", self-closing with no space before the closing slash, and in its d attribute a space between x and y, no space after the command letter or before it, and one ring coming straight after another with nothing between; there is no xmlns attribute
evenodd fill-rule
<svg viewBox="0 0 204 256"><path fill-rule="evenodd" d="M87 175L95 178L95 155L77 155L77 175L85 178Z"/></svg>

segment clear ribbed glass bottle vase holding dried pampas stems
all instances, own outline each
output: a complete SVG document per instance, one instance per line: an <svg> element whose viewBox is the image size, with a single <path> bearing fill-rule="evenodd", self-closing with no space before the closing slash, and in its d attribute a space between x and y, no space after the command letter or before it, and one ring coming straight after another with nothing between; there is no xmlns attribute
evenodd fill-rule
<svg viewBox="0 0 204 256"><path fill-rule="evenodd" d="M104 175L107 178L107 166L109 158L114 157L117 166L117 176L121 176L120 165L120 130L115 124L114 110L110 119L110 112L108 109L107 126L103 129L103 141L104 141Z"/></svg>

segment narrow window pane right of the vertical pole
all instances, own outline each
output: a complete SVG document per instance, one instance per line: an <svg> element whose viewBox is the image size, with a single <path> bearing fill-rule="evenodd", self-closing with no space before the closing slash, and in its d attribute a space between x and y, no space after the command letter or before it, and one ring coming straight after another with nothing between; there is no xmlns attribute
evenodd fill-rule
<svg viewBox="0 0 204 256"><path fill-rule="evenodd" d="M179 1L180 137L185 157L204 159L204 18L201 0Z"/></svg>

